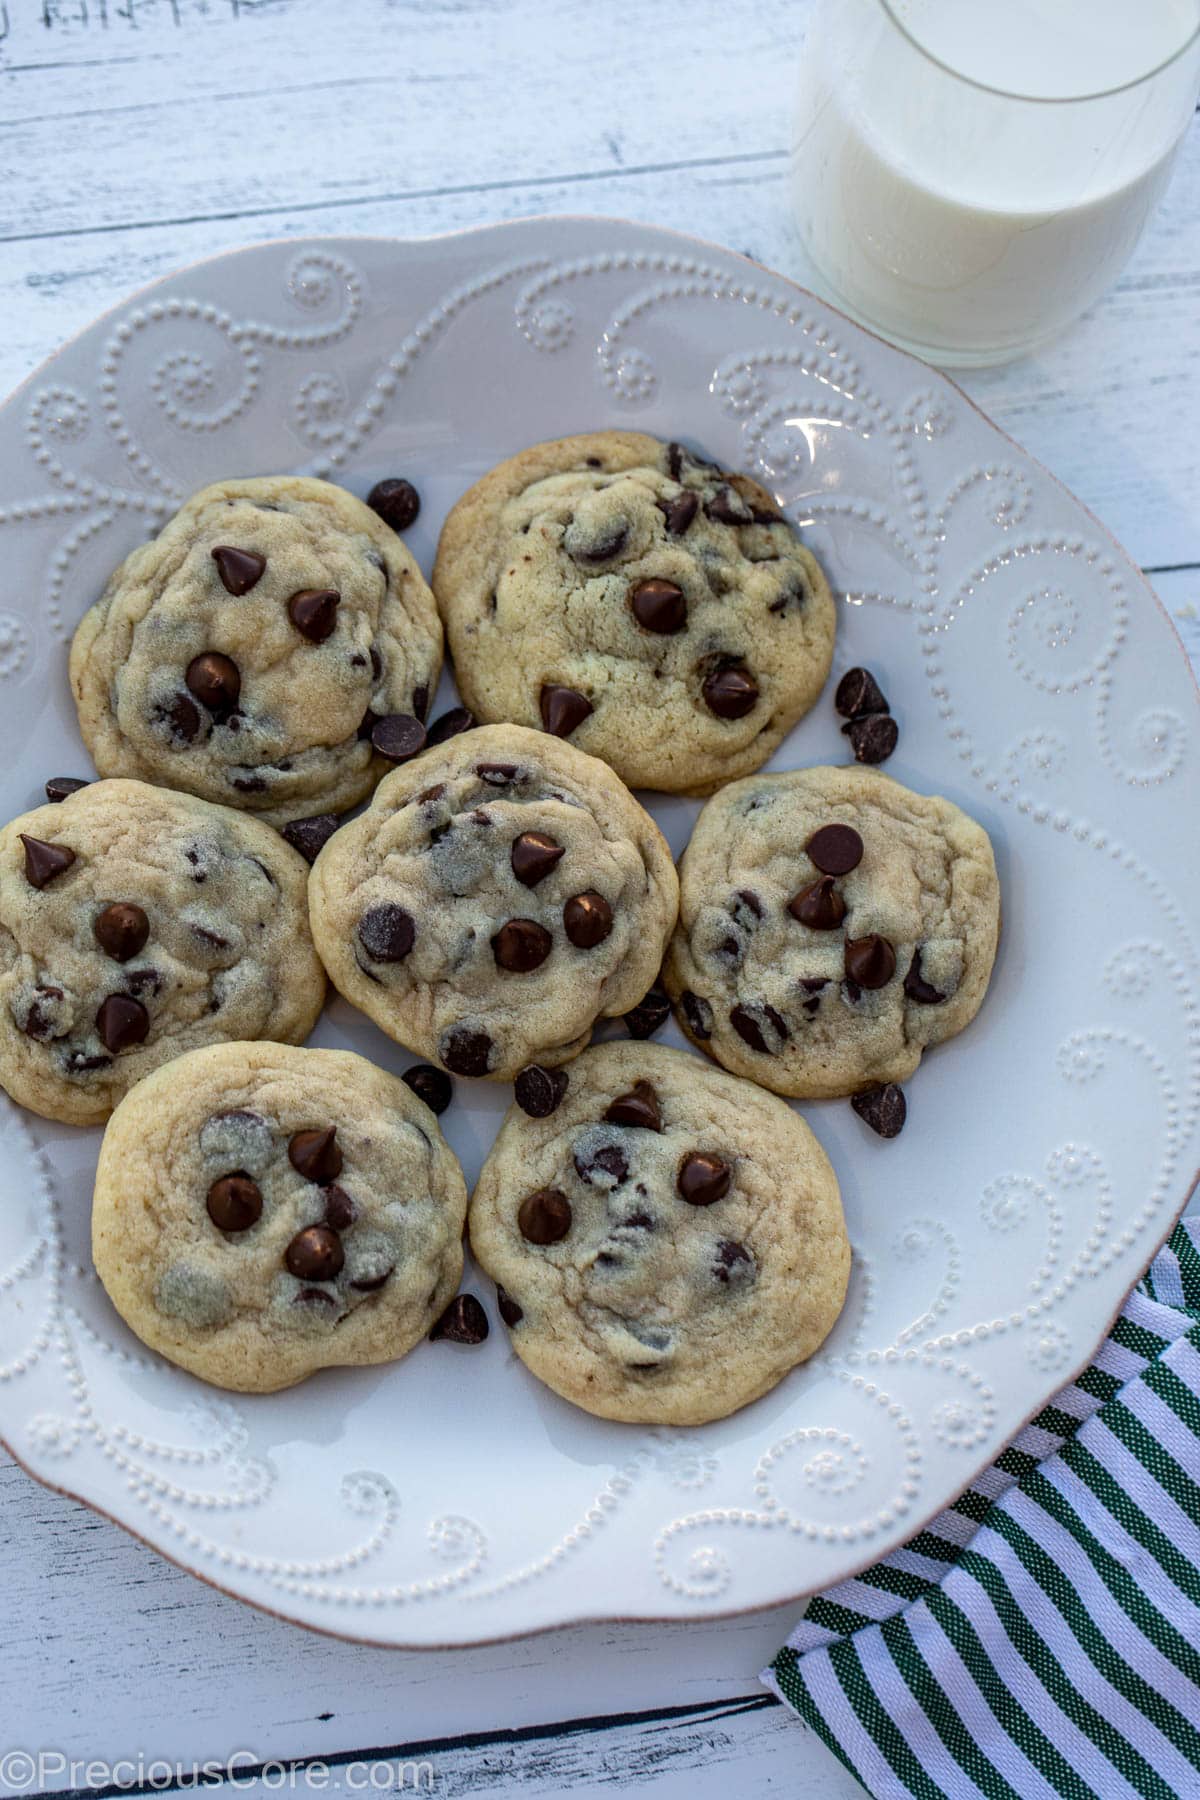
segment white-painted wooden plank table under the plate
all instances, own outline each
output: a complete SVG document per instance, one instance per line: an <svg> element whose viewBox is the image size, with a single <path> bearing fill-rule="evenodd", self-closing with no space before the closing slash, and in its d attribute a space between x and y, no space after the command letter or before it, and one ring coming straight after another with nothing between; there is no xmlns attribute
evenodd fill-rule
<svg viewBox="0 0 1200 1800"><path fill-rule="evenodd" d="M0 389L131 288L264 236L608 212L802 279L786 142L804 11L0 0ZM1200 130L1117 290L1036 360L964 385L1115 531L1200 659ZM862 1793L756 1683L793 1607L362 1649L203 1588L4 1456L0 1564L0 1759L63 1757L25 1791L106 1784L70 1760L239 1753L255 1791L432 1773L443 1795ZM275 1759L326 1759L324 1789L302 1768L252 1777ZM22 1786L0 1760L0 1796Z"/></svg>

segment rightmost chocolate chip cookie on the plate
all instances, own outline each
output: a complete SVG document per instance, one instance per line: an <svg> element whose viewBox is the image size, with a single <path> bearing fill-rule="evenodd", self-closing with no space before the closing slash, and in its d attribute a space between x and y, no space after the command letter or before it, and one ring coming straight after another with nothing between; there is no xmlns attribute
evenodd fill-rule
<svg viewBox="0 0 1200 1800"><path fill-rule="evenodd" d="M694 1044L779 1094L903 1082L979 1012L1000 931L982 826L869 769L709 801L664 979ZM896 1127L898 1129L898 1127Z"/></svg>

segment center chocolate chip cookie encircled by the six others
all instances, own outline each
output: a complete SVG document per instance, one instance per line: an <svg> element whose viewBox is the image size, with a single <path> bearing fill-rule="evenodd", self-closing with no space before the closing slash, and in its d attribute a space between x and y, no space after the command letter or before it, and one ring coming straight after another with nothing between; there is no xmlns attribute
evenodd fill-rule
<svg viewBox="0 0 1200 1800"><path fill-rule="evenodd" d="M398 769L309 877L345 999L453 1075L495 1080L567 1062L640 1001L676 907L671 851L613 772L522 725Z"/></svg>

